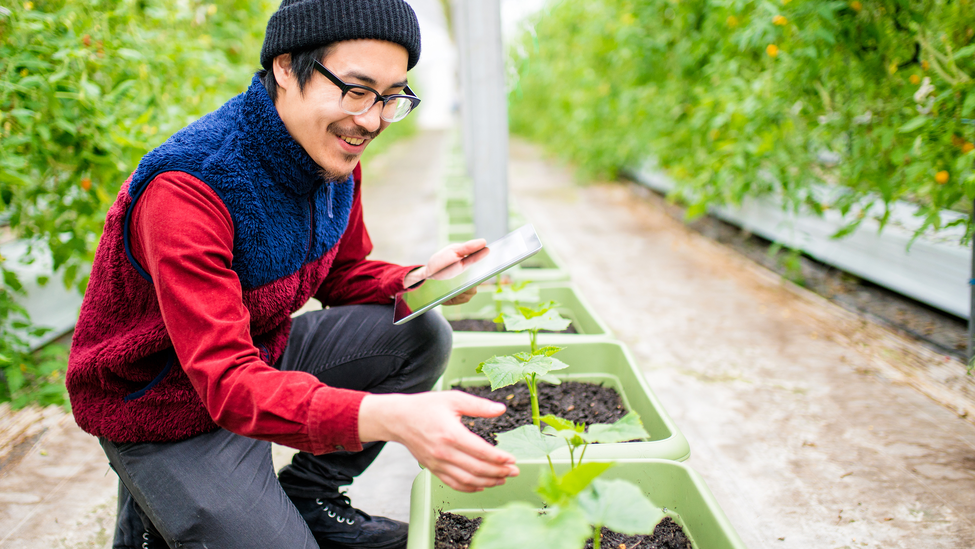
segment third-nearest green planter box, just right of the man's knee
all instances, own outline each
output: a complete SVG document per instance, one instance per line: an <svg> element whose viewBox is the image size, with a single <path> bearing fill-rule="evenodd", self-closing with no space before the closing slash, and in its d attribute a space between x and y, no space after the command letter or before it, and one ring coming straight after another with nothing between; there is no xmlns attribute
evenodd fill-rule
<svg viewBox="0 0 975 549"><path fill-rule="evenodd" d="M592 338L612 338L613 333L609 326L600 319L592 310L592 307L582 297L582 293L571 282L546 282L538 284L539 297L542 301L557 301L560 304L559 314L572 320L577 334L560 334L566 337L592 339ZM451 305L441 307L444 317L447 320L459 320L462 318L494 319L497 314L494 312L494 300L492 294L495 286L485 286L478 289L477 295L463 305ZM488 312L482 312L485 309ZM528 341L528 335L513 332L454 332L454 342L495 342L507 341L521 343Z"/></svg>

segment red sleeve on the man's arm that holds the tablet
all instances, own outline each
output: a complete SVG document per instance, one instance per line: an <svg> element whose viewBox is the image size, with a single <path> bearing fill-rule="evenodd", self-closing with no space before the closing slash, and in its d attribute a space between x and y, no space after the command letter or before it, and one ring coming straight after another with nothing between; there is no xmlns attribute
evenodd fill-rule
<svg viewBox="0 0 975 549"><path fill-rule="evenodd" d="M323 306L357 303L389 303L403 291L403 278L422 265L400 266L385 261L367 260L372 240L362 218L362 172L356 165L352 172L355 193L349 226L339 241L339 250L315 298Z"/></svg>

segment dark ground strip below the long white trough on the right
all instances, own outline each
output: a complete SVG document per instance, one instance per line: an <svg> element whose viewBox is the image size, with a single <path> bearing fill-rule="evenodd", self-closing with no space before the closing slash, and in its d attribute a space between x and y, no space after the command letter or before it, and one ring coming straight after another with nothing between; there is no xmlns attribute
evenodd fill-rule
<svg viewBox="0 0 975 549"><path fill-rule="evenodd" d="M702 235L734 248L837 305L911 337L931 350L965 362L968 322L919 301L862 280L807 255L777 250L774 244L710 215L687 222L685 209L661 194L632 183L636 194L660 205L670 217Z"/></svg>

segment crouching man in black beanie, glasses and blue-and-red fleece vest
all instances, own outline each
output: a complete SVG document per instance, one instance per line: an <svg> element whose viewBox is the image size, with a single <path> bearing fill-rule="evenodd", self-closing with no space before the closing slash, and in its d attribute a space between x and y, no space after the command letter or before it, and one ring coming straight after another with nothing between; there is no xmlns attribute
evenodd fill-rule
<svg viewBox="0 0 975 549"><path fill-rule="evenodd" d="M395 293L484 242L366 259L359 157L419 103L419 54L403 0L284 0L250 88L123 185L67 379L120 478L115 547L404 547L405 524L338 491L383 441L459 490L517 474L459 421L503 405L424 392L442 317L391 321ZM292 321L312 296L327 308ZM301 450L279 479L269 441Z"/></svg>

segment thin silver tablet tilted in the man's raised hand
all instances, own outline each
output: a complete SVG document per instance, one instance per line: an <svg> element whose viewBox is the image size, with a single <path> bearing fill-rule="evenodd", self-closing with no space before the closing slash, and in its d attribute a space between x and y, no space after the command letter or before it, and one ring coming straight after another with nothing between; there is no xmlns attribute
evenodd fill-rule
<svg viewBox="0 0 975 549"><path fill-rule="evenodd" d="M427 277L418 288L396 294L393 324L403 324L538 253L542 243L531 224L514 230Z"/></svg>

